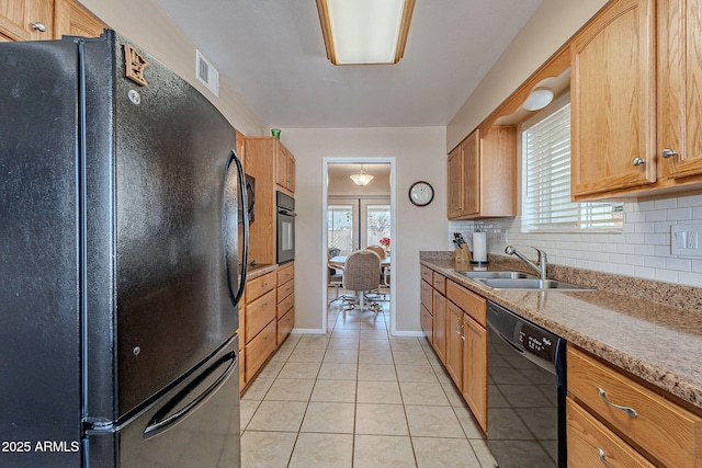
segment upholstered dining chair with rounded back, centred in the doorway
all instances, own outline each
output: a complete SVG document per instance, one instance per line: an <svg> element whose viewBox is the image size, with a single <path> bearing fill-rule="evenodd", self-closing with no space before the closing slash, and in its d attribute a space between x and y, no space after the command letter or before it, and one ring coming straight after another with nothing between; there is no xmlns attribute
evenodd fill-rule
<svg viewBox="0 0 702 468"><path fill-rule="evenodd" d="M343 288L355 292L352 300L347 300L348 310L371 310L377 315L381 305L370 299L366 293L376 290L381 286L381 258L372 250L358 250L347 258L343 267ZM370 303L366 305L365 300Z"/></svg>

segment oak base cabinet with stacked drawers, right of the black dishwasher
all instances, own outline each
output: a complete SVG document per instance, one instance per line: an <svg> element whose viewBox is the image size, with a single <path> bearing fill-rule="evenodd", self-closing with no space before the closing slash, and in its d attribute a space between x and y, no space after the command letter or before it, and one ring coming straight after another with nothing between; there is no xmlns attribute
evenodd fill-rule
<svg viewBox="0 0 702 468"><path fill-rule="evenodd" d="M702 467L702 418L576 346L566 361L568 466Z"/></svg>

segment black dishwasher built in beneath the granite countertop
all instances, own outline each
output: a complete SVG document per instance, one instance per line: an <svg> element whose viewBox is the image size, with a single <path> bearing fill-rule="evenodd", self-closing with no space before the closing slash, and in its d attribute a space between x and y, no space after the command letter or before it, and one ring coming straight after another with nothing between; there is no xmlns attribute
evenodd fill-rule
<svg viewBox="0 0 702 468"><path fill-rule="evenodd" d="M566 466L566 341L488 301L487 444L501 468Z"/></svg>

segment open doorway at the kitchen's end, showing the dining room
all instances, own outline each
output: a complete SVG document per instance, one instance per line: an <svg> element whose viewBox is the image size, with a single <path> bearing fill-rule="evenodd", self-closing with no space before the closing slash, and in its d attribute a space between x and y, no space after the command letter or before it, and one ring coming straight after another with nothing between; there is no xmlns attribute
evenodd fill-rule
<svg viewBox="0 0 702 468"><path fill-rule="evenodd" d="M395 288L393 278L393 252L397 252L395 242L395 160L394 158L325 158L322 233L324 246L324 287L322 299L325 315L322 327L329 330L329 317L341 310L339 295L352 292L343 290L342 269L331 269L329 260L343 265L344 259L356 250L377 247L383 258L380 273L380 288L373 296L378 299L382 318L387 320L387 332L395 334ZM367 185L355 184L350 175L363 169L373 175ZM352 297L352 296L351 296ZM335 309L336 308L336 309ZM354 310L354 313L373 316L372 312ZM346 319L346 315L343 316Z"/></svg>

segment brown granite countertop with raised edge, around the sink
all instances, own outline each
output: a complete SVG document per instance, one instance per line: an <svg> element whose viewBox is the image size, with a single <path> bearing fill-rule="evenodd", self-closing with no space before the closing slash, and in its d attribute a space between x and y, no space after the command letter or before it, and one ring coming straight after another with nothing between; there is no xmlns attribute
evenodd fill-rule
<svg viewBox="0 0 702 468"><path fill-rule="evenodd" d="M576 269L556 265L559 274L552 276L550 265L550 278L600 287L497 290L457 273L451 252L438 253L422 252L421 264L702 410L702 289L656 282L642 286L636 278L627 284L625 277L590 271L580 271L578 276ZM512 259L490 261L488 271L529 272ZM623 294L630 287L636 287L636 294ZM648 290L652 288L658 293ZM650 300L661 289L669 290L664 298L667 304Z"/></svg>

